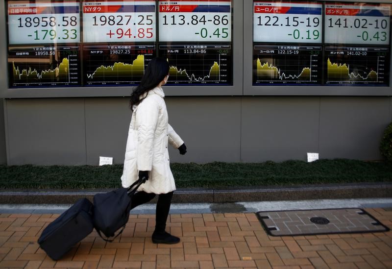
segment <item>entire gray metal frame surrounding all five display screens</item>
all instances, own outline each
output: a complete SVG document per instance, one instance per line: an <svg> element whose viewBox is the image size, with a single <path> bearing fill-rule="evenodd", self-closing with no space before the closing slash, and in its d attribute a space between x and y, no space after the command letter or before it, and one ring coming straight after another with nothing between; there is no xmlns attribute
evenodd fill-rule
<svg viewBox="0 0 392 269"><path fill-rule="evenodd" d="M358 2L355 0L322 2ZM392 3L391 0L368 0L368 3ZM253 1L235 0L233 3L233 85L232 86L165 86L167 96L392 96L392 57L390 86L254 86L253 72ZM0 97L1 98L61 98L61 97L123 97L129 96L133 86L12 88L8 86L7 25L5 3L0 4ZM324 28L324 27L323 27ZM392 25L390 25L390 35ZM324 44L322 44L324 45ZM349 46L349 45L347 45ZM392 42L390 44L392 54Z"/></svg>

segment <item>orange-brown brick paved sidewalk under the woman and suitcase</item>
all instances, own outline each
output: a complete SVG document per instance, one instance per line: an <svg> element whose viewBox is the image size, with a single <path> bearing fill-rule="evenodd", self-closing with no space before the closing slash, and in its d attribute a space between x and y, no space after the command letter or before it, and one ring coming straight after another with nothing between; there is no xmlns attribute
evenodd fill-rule
<svg viewBox="0 0 392 269"><path fill-rule="evenodd" d="M392 228L392 211L367 209ZM131 215L121 238L94 231L60 261L39 248L58 214L0 214L0 268L392 268L392 232L271 237L255 214L170 215L176 245L151 242L154 215Z"/></svg>

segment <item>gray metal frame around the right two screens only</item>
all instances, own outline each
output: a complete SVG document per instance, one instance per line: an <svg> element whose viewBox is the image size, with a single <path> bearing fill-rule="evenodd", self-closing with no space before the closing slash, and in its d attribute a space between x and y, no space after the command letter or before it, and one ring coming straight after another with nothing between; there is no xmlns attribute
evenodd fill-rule
<svg viewBox="0 0 392 269"><path fill-rule="evenodd" d="M355 0L322 0L321 2L363 2ZM368 3L392 3L368 0ZM322 27L324 31L324 26ZM390 35L392 25L390 26ZM392 43L392 42L391 42ZM313 45L313 44L309 44ZM314 46L320 46L314 44ZM321 44L324 46L324 44ZM355 47L355 45L345 45ZM392 53L390 44L390 54ZM244 95L245 96L392 96L392 57L390 59L390 86L314 86L314 85L253 85L253 0L244 1Z"/></svg>

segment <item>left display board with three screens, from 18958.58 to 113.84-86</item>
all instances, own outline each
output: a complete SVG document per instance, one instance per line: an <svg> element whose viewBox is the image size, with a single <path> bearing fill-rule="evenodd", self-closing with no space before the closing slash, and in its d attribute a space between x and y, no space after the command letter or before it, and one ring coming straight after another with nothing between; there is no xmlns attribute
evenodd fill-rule
<svg viewBox="0 0 392 269"><path fill-rule="evenodd" d="M233 85L231 0L8 0L9 88ZM158 34L159 33L159 34Z"/></svg>

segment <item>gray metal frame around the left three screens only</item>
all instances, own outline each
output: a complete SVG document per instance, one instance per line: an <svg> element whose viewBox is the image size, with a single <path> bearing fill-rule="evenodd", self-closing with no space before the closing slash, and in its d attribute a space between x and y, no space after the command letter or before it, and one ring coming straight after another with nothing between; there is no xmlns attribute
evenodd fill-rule
<svg viewBox="0 0 392 269"><path fill-rule="evenodd" d="M129 96L134 86L107 87L51 87L9 88L7 63L7 25L5 1L0 4L0 97L1 98L63 98L63 97L124 97ZM232 65L233 85L229 86L165 86L167 96L241 96L243 95L243 0L232 1ZM185 43L185 42L184 42ZM158 49L158 48L157 48Z"/></svg>

